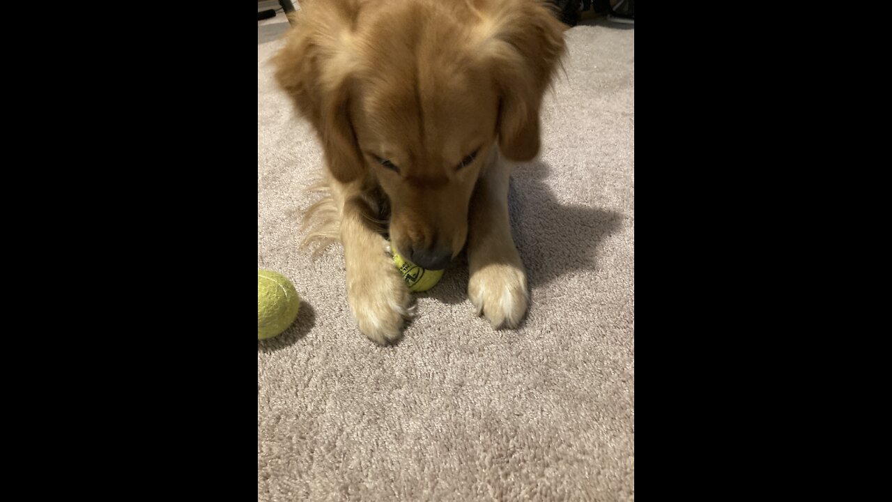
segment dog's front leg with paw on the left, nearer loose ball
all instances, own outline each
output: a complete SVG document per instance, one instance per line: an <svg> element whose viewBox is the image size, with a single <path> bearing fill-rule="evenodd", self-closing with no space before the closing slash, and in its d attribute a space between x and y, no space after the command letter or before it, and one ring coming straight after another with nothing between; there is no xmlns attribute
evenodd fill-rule
<svg viewBox="0 0 892 502"><path fill-rule="evenodd" d="M403 322L413 314L412 297L387 255L387 240L376 230L374 203L356 184L331 180L332 197L341 208L341 243L347 267L347 303L359 330L378 344L400 338Z"/></svg>

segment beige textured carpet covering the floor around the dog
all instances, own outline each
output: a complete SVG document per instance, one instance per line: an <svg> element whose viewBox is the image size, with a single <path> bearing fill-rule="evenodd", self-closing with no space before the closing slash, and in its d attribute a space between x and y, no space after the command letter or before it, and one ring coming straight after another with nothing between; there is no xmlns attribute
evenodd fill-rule
<svg viewBox="0 0 892 502"><path fill-rule="evenodd" d="M633 500L634 29L566 32L541 160L510 194L523 326L475 317L461 255L382 348L353 326L342 250L298 251L322 156L267 64L282 21L258 33L257 265L305 304L258 342L258 499Z"/></svg>

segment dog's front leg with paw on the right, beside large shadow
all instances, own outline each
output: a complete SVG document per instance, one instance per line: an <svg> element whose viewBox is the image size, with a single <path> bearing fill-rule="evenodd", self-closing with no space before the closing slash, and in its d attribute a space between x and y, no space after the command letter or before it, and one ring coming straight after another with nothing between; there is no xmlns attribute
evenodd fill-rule
<svg viewBox="0 0 892 502"><path fill-rule="evenodd" d="M467 262L467 295L493 328L515 328L524 318L529 296L508 220L508 178L511 166L493 153L494 161L477 181L471 199Z"/></svg>

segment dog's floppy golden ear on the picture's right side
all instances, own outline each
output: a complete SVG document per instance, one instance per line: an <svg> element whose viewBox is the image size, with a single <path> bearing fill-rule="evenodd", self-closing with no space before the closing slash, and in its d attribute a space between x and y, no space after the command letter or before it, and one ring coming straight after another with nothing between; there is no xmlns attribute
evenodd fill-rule
<svg viewBox="0 0 892 502"><path fill-rule="evenodd" d="M483 57L500 94L499 146L515 161L539 153L539 110L564 54L564 25L536 0L481 0Z"/></svg>

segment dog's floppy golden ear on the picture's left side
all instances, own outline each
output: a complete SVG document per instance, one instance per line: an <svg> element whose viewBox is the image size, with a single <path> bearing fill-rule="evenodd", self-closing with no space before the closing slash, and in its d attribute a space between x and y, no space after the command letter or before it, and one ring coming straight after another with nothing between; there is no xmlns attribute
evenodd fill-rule
<svg viewBox="0 0 892 502"><path fill-rule="evenodd" d="M285 47L273 58L278 85L316 130L329 171L343 183L365 171L350 120L351 31L358 13L355 1L302 1Z"/></svg>

